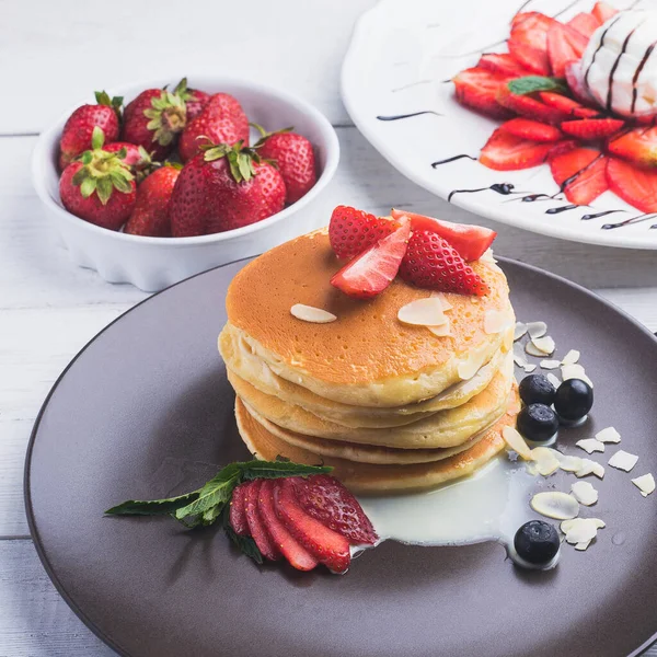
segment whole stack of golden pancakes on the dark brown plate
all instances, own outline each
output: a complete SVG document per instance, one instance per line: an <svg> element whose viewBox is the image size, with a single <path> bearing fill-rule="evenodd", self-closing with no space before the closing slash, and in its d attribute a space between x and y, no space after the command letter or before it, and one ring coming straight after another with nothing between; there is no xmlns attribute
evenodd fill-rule
<svg viewBox="0 0 657 657"><path fill-rule="evenodd" d="M367 301L332 287L342 263L326 231L244 267L228 291L219 350L250 451L332 465L370 494L436 487L487 463L519 410L515 318L494 261L470 264L491 292L441 295L448 335L400 321L402 307L435 293L399 277ZM300 320L290 312L299 303L337 319Z"/></svg>

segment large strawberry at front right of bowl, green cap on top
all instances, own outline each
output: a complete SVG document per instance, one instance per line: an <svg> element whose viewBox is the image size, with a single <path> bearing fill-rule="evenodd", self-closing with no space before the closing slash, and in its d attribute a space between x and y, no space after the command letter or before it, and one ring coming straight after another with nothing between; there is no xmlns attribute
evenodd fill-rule
<svg viewBox="0 0 657 657"><path fill-rule="evenodd" d="M232 230L283 210L283 176L255 150L239 143L204 148L185 164L173 189L169 214L174 237Z"/></svg>

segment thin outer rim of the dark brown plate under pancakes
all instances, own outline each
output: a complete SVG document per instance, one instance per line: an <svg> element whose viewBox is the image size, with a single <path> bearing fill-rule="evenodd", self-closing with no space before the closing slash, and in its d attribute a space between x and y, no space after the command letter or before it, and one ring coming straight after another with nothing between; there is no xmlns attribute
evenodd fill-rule
<svg viewBox="0 0 657 657"><path fill-rule="evenodd" d="M95 343L96 339L99 339L106 331L108 331L112 326L114 326L114 324L118 323L124 316L126 316L127 314L131 313L134 310L138 309L139 307L143 306L145 303L149 302L151 299L153 299L155 297L159 297L160 295L165 293L168 290L170 290L172 288L175 288L175 287L178 287L180 285L183 285L183 284L187 283L188 280L193 280L194 278L198 278L199 276L204 276L206 274L210 274L211 272L216 272L218 269L223 269L224 267L229 267L231 265L235 265L235 264L239 264L239 263L246 263L246 262L252 261L252 260L254 260L256 257L258 257L258 256L255 255L255 256L251 256L251 257L239 258L237 261L232 261L230 263L226 263L223 265L219 265L217 267L212 267L212 268L207 269L205 272L200 272L198 274L194 274L193 276L189 276L189 277L187 277L187 278L185 278L183 280L180 280L178 283L175 283L175 284L173 284L173 285L164 288L163 290L160 290L158 292L154 292L153 295L150 295L146 299L142 299L141 301L139 301L138 303L136 303L135 306L132 306L131 308L129 308L128 310L126 310L125 312L123 312L122 314L119 314L117 318L115 318L114 320L112 320L106 326L104 326L103 328L101 328L101 331L99 331L96 334L94 334L89 339L89 342L87 342L82 346L82 348L66 365L66 367L60 372L60 374L57 377L57 379L53 383L53 387L50 388L50 390L46 394L46 396L45 396L45 399L44 399L44 401L43 401L43 403L42 403L42 405L41 405L41 407L38 410L36 418L34 420L34 426L32 427L32 431L30 433L30 439L28 439L28 442L27 442L27 449L25 451L25 460L24 460L24 466L23 466L23 502L24 502L24 508L25 508L25 516L26 516L26 519L27 519L27 527L30 529L30 537L32 539L32 543L34 545L36 554L37 554L37 556L38 556L38 558L41 561L42 566L44 567L44 570L46 572L46 575L48 576L48 579L53 583L53 585L57 589L57 592L61 596L61 598L67 603L67 606L82 621L82 623L89 630L91 630L91 632L95 636L97 636L110 648L112 648L113 650L115 650L120 657L136 657L136 656L134 654L131 654L131 653L128 653L114 638L112 638L107 634L105 634L105 632L103 632L99 626L96 626L91 621L91 619L89 619L87 616L87 614L84 613L84 611L78 606L78 603L73 600L73 598L69 595L69 592L64 587L64 584L59 580L59 577L57 576L57 574L55 572L55 568L51 566L50 562L47 558L44 545L42 544L42 539L41 539L41 535L39 535L39 532L38 532L37 523L36 523L36 520L34 518L33 508L32 508L31 466L32 466L32 456L33 456L34 445L35 445L36 439L37 439L37 435L38 435L38 430L39 430L39 426L41 426L41 422L42 422L43 415L46 412L46 410L48 407L48 404L50 403L50 400L51 400L55 391L57 390L57 388L59 387L59 384L61 383L61 381L64 380L64 378L66 377L66 374L68 373L68 371L76 365L76 362L78 361L78 359L83 356L83 354L87 351L87 349L89 347L91 347L91 345L93 343ZM632 315L630 315L622 308L619 308L618 306L615 306L615 303L613 303L612 301L609 301L608 299L604 299L600 295L598 295L598 293L593 292L592 290L590 290L590 289L588 289L588 288L579 285L578 283L569 280L569 279L567 279L567 278L565 278L563 276L560 276L557 274L553 274L552 272L548 272L546 269L543 269L541 267L537 267L535 265L523 263L523 262L515 260L515 258L505 257L505 256L497 256L497 255L495 256L495 258L503 266L505 264L510 264L511 266L518 266L520 268L528 269L528 270L530 270L530 272L532 272L534 274L539 274L539 275L542 275L542 276L548 276L549 278L551 278L553 280L556 280L556 281L558 281L561 284L565 284L565 285L567 285L567 286L569 286L572 288L575 288L577 291L583 292L587 297L592 298L593 300L602 303L602 306L606 307L608 310L611 310L612 312L619 313L626 321L629 321L630 323L632 323L636 328L638 328L646 336L648 336L650 338L650 341L657 343L657 336L656 336L656 334L654 334L652 331L649 331L649 328L647 328L638 320L636 320L635 318L633 318ZM648 648L649 646L652 646L656 642L657 642L657 627L656 627L654 634L652 634L650 637L646 642L644 642L641 646L638 646L632 653L630 653L627 655L627 657L638 657L646 648Z"/></svg>

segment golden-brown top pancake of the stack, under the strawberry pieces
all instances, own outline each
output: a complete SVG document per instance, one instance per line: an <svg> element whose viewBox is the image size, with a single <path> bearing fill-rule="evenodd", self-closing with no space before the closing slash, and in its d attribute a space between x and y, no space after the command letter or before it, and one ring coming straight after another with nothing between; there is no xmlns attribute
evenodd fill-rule
<svg viewBox="0 0 657 657"><path fill-rule="evenodd" d="M506 277L492 262L471 263L489 286L488 295L446 295L452 306L452 334L446 337L397 320L400 308L429 297L430 290L396 277L373 299L353 299L330 284L343 264L325 230L272 249L231 283L223 331L242 339L274 373L322 397L390 407L434 397L462 380L459 369L475 371L489 361L505 332L485 332L488 310L508 312L512 324ZM327 310L337 321L298 320L290 313L296 303Z"/></svg>

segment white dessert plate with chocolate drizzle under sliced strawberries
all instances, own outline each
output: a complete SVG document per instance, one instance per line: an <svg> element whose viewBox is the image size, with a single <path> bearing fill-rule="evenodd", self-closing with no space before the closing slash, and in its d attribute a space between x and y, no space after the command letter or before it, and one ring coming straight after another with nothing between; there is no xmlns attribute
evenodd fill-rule
<svg viewBox="0 0 657 657"><path fill-rule="evenodd" d="M619 9L630 4L613 1ZM393 166L466 210L565 240L657 249L657 214L642 215L611 192L590 207L573 207L562 194L550 198L558 187L546 164L523 171L480 164L480 149L499 122L453 96L456 73L475 66L484 51L505 50L518 11L567 20L591 5L592 0L380 0L356 24L343 64L343 101ZM535 195L544 196L528 203Z"/></svg>

